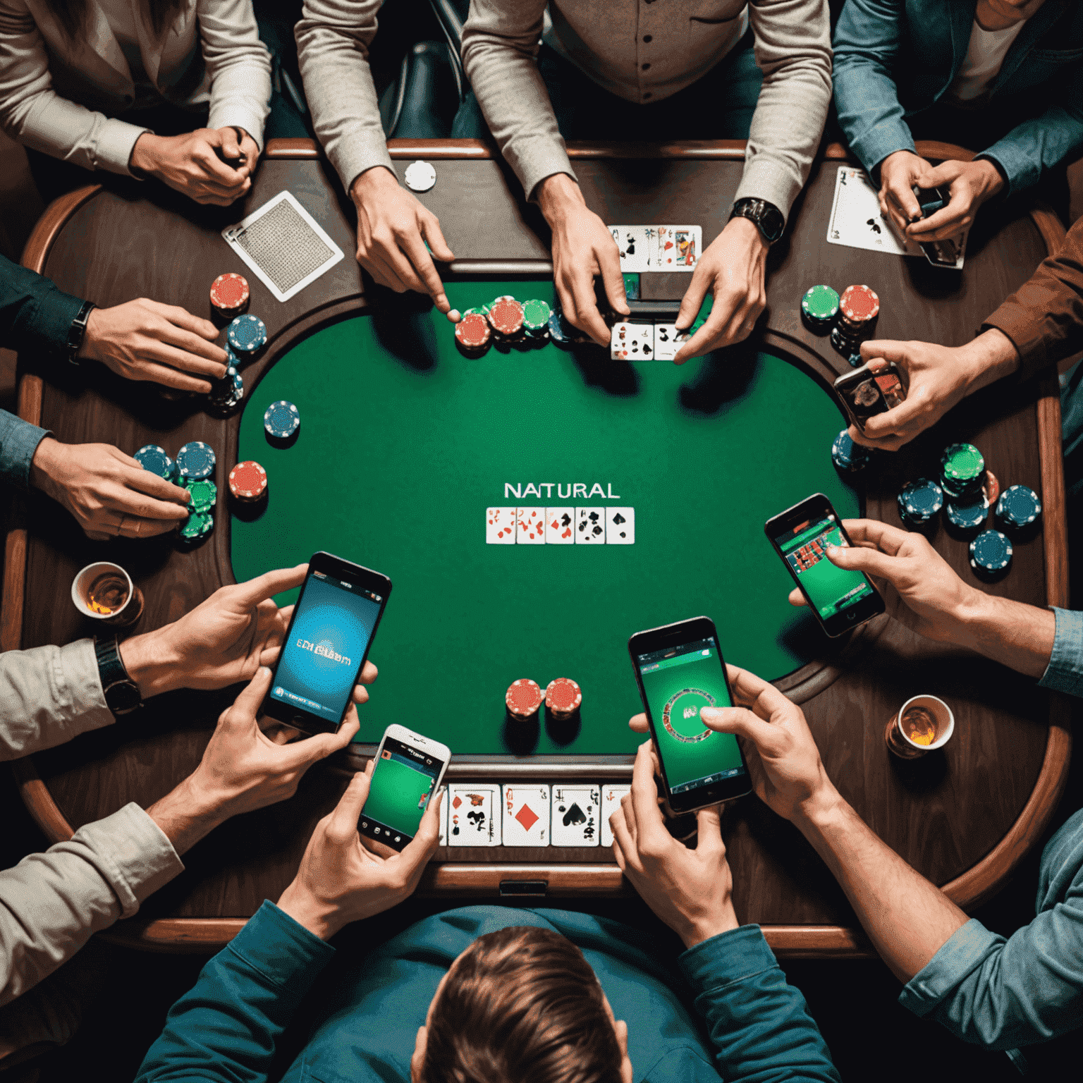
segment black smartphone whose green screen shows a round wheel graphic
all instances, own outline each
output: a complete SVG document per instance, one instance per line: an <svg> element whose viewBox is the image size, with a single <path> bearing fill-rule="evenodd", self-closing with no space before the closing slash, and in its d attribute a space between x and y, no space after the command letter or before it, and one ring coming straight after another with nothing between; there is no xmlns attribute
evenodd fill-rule
<svg viewBox="0 0 1083 1083"><path fill-rule="evenodd" d="M701 707L733 706L715 623L696 616L637 631L628 653L670 815L747 794L752 780L738 739L708 730L700 719Z"/></svg>

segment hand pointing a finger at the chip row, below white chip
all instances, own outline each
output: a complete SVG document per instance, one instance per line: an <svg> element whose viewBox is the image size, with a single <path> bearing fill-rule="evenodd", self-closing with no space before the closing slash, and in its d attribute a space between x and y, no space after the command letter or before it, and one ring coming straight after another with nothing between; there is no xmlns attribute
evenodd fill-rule
<svg viewBox="0 0 1083 1083"><path fill-rule="evenodd" d="M432 256L447 262L455 255L440 231L440 219L386 166L366 169L351 185L350 196L357 208L357 262L396 293L428 293L446 315L452 305Z"/></svg>

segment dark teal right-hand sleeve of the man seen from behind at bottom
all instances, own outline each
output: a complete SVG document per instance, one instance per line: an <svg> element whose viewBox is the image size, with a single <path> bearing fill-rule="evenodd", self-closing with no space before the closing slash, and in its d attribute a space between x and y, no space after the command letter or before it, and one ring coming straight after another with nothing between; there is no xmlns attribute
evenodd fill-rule
<svg viewBox="0 0 1083 1083"><path fill-rule="evenodd" d="M679 962L727 1083L838 1083L805 997L786 983L758 925L704 940Z"/></svg>

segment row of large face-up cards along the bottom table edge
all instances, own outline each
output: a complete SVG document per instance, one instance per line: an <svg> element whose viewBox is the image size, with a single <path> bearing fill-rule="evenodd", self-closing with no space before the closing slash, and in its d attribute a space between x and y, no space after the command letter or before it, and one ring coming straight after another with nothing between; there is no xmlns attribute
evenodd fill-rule
<svg viewBox="0 0 1083 1083"><path fill-rule="evenodd" d="M449 783L441 846L612 846L610 817L631 786Z"/></svg>

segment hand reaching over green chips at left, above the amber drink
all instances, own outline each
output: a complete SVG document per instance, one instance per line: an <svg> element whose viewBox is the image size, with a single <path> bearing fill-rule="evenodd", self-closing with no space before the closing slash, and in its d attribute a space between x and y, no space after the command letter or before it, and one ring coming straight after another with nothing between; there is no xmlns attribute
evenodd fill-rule
<svg viewBox="0 0 1083 1083"><path fill-rule="evenodd" d="M154 537L188 518L191 497L112 444L62 444L45 436L30 460L30 484L75 516L94 542Z"/></svg>

